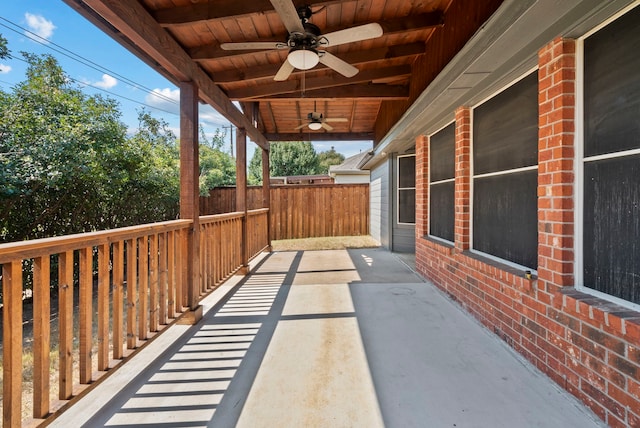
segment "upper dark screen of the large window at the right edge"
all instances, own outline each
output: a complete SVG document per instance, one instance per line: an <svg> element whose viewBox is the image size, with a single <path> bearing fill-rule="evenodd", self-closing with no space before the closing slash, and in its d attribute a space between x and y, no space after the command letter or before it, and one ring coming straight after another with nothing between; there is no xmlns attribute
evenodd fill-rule
<svg viewBox="0 0 640 428"><path fill-rule="evenodd" d="M640 147L640 7L584 41L585 156Z"/></svg>

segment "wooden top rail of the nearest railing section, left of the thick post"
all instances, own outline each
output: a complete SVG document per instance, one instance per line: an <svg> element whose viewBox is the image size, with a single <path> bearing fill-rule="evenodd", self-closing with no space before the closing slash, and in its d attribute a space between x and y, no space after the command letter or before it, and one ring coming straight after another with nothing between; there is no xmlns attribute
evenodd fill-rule
<svg viewBox="0 0 640 428"><path fill-rule="evenodd" d="M137 226L107 229L96 232L77 233L74 235L55 236L52 238L34 239L31 241L9 242L0 244L0 264L17 259L29 259L47 254L57 254L78 248L108 244L111 242L134 239L154 233L185 229L192 220L170 220Z"/></svg>

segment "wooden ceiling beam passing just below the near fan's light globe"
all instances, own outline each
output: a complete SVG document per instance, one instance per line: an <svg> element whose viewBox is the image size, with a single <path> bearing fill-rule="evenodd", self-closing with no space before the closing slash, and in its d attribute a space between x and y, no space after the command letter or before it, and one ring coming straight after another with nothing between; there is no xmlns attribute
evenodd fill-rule
<svg viewBox="0 0 640 428"><path fill-rule="evenodd" d="M352 65L365 64L371 62L385 61L395 58L404 58L425 53L425 44L423 42L408 43L405 45L384 46L375 49L366 49L362 51L353 51L340 54L340 59ZM231 70L216 72L213 76L216 83L232 83L246 82L247 80L266 79L276 75L280 69L279 64L267 64L257 67L249 67L245 69L233 68ZM306 73L313 73L319 70L326 70L323 64L318 64ZM301 70L294 70L292 75L302 74Z"/></svg>

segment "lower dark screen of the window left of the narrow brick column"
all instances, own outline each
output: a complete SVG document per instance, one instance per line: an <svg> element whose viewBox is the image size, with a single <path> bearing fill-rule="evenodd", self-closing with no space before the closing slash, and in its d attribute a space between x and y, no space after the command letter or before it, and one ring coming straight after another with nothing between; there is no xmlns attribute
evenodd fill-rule
<svg viewBox="0 0 640 428"><path fill-rule="evenodd" d="M433 184L429 189L429 234L453 242L455 182Z"/></svg>

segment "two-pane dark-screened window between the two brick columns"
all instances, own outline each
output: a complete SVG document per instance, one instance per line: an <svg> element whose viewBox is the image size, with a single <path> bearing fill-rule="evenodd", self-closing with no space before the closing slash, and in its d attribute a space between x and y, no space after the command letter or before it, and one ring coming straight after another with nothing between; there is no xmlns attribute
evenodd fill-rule
<svg viewBox="0 0 640 428"><path fill-rule="evenodd" d="M538 266L538 73L473 111L473 249Z"/></svg>

